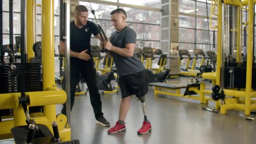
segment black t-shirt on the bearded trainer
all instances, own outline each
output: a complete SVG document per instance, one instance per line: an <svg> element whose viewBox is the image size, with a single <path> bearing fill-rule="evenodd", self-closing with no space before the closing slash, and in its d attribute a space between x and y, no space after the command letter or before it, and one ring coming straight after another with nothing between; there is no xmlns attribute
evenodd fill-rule
<svg viewBox="0 0 256 144"><path fill-rule="evenodd" d="M86 25L82 28L78 28L75 25L75 21L70 22L70 50L80 53L84 50L88 51L89 55L91 55L91 34L98 35L99 29L92 21L87 21ZM61 40L63 40L61 36ZM78 58L70 57L70 60L75 60Z"/></svg>

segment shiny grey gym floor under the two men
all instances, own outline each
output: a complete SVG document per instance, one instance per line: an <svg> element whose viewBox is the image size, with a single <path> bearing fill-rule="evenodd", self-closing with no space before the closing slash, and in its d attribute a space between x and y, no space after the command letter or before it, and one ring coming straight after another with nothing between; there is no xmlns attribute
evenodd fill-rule
<svg viewBox="0 0 256 144"><path fill-rule="evenodd" d="M181 77L169 82L186 84L190 78ZM101 100L104 116L111 126L115 125L121 95L105 94L101 95ZM245 121L243 112L228 111L227 115L220 115L202 110L203 106L190 99L155 97L149 87L147 113L152 131L137 135L143 114L140 102L133 97L125 120L127 130L108 134L110 127L95 124L88 94L76 96L72 110L72 139L79 139L81 144L255 144L256 121ZM214 107L214 103L210 102L209 106ZM60 109L57 106L57 112Z"/></svg>

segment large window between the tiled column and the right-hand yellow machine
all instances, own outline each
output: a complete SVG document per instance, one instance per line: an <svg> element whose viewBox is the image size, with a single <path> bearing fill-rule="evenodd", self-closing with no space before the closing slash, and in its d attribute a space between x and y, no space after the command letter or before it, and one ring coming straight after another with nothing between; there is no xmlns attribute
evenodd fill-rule
<svg viewBox="0 0 256 144"><path fill-rule="evenodd" d="M208 1L208 19L205 0L179 0L179 48L203 51L215 51L213 49L213 28L217 25L216 19L212 20L210 26L211 1ZM195 14L195 16L188 16ZM215 10L217 13L217 8ZM205 17L206 16L206 17ZM205 17L205 18L203 18ZM215 17L215 16L213 16ZM217 32L215 32L215 44L217 42Z"/></svg>

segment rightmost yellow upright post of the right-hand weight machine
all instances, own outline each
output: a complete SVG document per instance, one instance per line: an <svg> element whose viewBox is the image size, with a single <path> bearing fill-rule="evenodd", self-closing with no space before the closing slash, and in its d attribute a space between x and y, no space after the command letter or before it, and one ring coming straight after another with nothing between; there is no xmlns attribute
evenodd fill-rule
<svg viewBox="0 0 256 144"><path fill-rule="evenodd" d="M250 115L251 111L251 80L253 61L253 0L248 0L248 47L246 66L246 88L245 88L245 115Z"/></svg>

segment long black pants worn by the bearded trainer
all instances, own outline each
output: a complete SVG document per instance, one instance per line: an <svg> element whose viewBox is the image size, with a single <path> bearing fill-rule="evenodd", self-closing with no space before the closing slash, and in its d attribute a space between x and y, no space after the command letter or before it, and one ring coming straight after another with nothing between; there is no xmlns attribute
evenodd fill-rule
<svg viewBox="0 0 256 144"><path fill-rule="evenodd" d="M99 89L97 86L97 74L96 69L93 67L93 59L89 61L70 61L70 96L71 96L71 110L75 101L75 90L76 85L79 82L79 72L82 73L85 82L87 84L91 105L93 107L93 112L95 118L98 119L103 116L101 112L102 104L101 97L99 94ZM62 113L66 111L66 104L62 109ZM82 110L83 112L83 110Z"/></svg>

